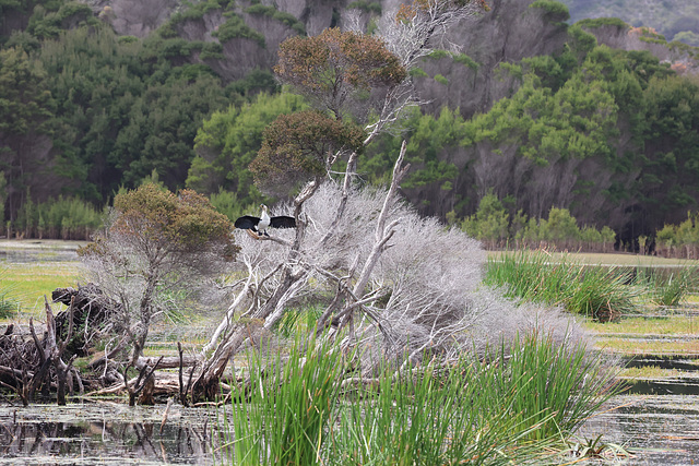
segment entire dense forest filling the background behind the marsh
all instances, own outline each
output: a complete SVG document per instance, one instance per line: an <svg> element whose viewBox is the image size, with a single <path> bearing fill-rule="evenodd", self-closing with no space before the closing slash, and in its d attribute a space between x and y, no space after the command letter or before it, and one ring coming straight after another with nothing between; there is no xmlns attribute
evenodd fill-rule
<svg viewBox="0 0 699 466"><path fill-rule="evenodd" d="M307 107L273 79L279 44L371 32L393 3L0 0L0 230L87 238L144 180L230 218L272 203L248 165L276 116ZM488 3L446 37L460 52L413 72L426 105L365 151L364 182L387 181L406 139L402 194L487 247L696 258L697 8ZM631 25L583 17L608 13Z"/></svg>

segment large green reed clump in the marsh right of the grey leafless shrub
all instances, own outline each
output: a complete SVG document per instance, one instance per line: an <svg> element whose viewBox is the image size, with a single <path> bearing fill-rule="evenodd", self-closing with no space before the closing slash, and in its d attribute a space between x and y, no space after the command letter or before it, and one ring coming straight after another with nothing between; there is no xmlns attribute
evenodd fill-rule
<svg viewBox="0 0 699 466"><path fill-rule="evenodd" d="M542 251L521 250L489 258L484 282L506 287L510 297L561 304L566 310L601 321L635 312L640 290L630 274L616 267L582 265L564 258L552 262Z"/></svg>

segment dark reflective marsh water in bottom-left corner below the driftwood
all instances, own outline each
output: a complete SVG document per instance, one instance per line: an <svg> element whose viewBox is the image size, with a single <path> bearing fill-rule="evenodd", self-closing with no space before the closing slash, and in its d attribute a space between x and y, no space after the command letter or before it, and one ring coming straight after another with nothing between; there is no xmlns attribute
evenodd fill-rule
<svg viewBox="0 0 699 466"><path fill-rule="evenodd" d="M0 464L213 464L215 417L180 407L161 429L164 410L120 405L0 408Z"/></svg>

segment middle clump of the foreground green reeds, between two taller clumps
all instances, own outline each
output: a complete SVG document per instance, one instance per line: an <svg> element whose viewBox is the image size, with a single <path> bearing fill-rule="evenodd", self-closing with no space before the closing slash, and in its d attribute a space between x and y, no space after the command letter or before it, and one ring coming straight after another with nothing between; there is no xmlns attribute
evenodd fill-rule
<svg viewBox="0 0 699 466"><path fill-rule="evenodd" d="M512 416L513 393L498 394L496 365L463 358L387 370L344 405L328 458L342 465L521 464L549 440ZM365 381L369 382L369 381ZM501 395L501 396L498 396Z"/></svg>

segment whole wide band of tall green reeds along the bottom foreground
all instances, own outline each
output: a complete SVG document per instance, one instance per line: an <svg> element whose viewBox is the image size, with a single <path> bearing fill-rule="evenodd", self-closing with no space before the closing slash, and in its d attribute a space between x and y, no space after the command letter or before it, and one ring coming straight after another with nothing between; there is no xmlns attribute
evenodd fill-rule
<svg viewBox="0 0 699 466"><path fill-rule="evenodd" d="M615 393L597 357L538 335L508 360L387 365L351 383L352 355L336 345L296 339L289 351L249 356L249 384L224 410L224 463L523 464L549 455Z"/></svg>

